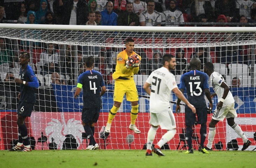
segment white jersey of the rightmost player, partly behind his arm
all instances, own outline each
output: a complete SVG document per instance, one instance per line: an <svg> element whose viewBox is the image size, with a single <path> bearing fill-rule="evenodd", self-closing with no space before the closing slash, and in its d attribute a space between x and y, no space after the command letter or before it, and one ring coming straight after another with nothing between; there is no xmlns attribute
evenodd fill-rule
<svg viewBox="0 0 256 168"><path fill-rule="evenodd" d="M225 82L224 78L220 75L220 73L213 72L211 74L210 80L213 85L213 89L218 96L218 102L220 102L220 99L222 98L223 93L224 93L224 88L221 87L222 82ZM233 97L232 93L229 91L228 96L225 98L223 104L231 104L234 102L235 102L234 97Z"/></svg>

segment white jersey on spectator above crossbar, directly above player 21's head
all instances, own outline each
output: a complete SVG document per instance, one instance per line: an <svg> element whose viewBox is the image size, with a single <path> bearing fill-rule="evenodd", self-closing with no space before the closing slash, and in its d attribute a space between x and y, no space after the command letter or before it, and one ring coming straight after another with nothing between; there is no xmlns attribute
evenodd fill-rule
<svg viewBox="0 0 256 168"><path fill-rule="evenodd" d="M169 25L170 22L184 22L183 14L180 10L175 10L171 12L166 10L163 12L162 21L165 21L166 26L178 26L178 25Z"/></svg>

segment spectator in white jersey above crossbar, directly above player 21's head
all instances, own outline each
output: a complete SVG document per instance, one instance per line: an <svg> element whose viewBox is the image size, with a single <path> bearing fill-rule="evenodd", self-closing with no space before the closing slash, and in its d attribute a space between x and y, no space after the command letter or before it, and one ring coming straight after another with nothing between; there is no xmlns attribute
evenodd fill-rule
<svg viewBox="0 0 256 168"><path fill-rule="evenodd" d="M179 26L171 25L171 22L184 22L183 14L176 8L176 0L170 0L169 9L163 12L162 21L165 22L165 26Z"/></svg>

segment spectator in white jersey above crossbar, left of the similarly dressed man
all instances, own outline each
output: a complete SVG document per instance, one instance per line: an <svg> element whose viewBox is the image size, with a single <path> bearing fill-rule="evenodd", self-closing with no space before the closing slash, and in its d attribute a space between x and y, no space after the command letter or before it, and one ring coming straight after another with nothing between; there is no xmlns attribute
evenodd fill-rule
<svg viewBox="0 0 256 168"><path fill-rule="evenodd" d="M147 10L140 14L140 26L161 26L161 13L156 12L155 2L149 0L147 2Z"/></svg>

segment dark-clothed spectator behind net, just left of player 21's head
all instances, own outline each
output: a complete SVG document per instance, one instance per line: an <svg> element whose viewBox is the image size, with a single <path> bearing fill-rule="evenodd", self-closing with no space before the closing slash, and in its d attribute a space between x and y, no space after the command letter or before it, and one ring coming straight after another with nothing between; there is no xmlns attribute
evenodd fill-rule
<svg viewBox="0 0 256 168"><path fill-rule="evenodd" d="M148 62L148 75L150 75L152 71L161 68L162 66L162 53L160 50L154 50L153 57Z"/></svg>

